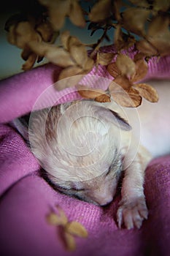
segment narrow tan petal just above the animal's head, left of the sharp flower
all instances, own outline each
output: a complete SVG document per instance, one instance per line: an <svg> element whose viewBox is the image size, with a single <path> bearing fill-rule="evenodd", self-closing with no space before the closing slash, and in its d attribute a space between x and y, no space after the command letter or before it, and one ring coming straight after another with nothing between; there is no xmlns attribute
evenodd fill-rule
<svg viewBox="0 0 170 256"><path fill-rule="evenodd" d="M88 86L77 85L77 91L85 99L95 99L101 95L105 95L105 92L101 89L93 89Z"/></svg>

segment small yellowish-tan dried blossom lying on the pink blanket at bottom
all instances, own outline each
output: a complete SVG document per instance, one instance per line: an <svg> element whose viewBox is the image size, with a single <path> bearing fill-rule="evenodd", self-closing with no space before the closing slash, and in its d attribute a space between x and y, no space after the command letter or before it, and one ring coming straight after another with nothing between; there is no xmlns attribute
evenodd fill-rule
<svg viewBox="0 0 170 256"><path fill-rule="evenodd" d="M64 246L68 251L74 251L76 249L75 237L87 238L88 231L80 222L69 222L63 209L60 206L56 207L58 214L51 211L50 214L47 214L47 222L50 225L58 227L58 233L60 234Z"/></svg>

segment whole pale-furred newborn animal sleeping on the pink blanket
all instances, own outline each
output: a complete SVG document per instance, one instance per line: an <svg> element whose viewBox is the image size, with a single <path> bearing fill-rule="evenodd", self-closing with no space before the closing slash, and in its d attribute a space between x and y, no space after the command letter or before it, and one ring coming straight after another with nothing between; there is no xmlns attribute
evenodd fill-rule
<svg viewBox="0 0 170 256"><path fill-rule="evenodd" d="M31 113L28 127L31 151L67 195L105 206L123 174L117 223L128 229L147 219L144 170L153 157L170 152L170 81L148 83L158 91L158 103L143 99L131 109L70 102Z"/></svg>

